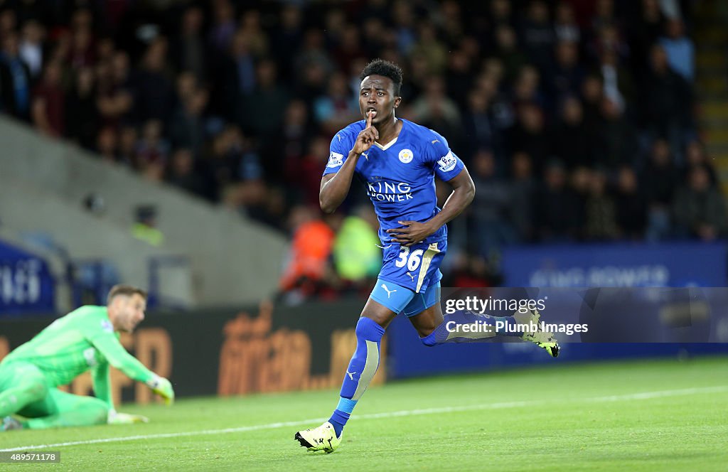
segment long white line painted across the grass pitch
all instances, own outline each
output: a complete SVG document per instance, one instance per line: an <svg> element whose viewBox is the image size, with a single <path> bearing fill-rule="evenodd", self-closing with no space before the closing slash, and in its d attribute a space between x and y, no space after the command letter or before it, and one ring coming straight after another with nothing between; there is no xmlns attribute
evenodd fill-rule
<svg viewBox="0 0 728 472"><path fill-rule="evenodd" d="M659 390L656 392L628 393L625 395L601 396L601 397L592 397L592 398L574 398L574 399L569 399L568 401L602 403L602 402L624 401L624 400L649 400L651 398L695 395L697 393L721 393L721 392L728 392L728 385L719 385L716 387L704 387L704 388L683 388L680 390ZM357 414L357 415L352 416L352 419L353 420L379 420L380 418L419 416L422 414L471 412L474 410L483 410L483 409L507 409L507 408L519 408L519 407L523 407L523 406L528 406L528 407L542 406L545 404L553 404L553 403L558 403L558 402L554 402L554 401L506 401L506 402L492 403L492 404L442 406L440 408L401 410L399 412ZM53 447L80 446L80 445L86 445L86 444L103 444L103 443L111 443L111 442L135 441L136 439L181 438L183 436L205 436L205 435L210 435L210 434L246 433L248 431L288 428L289 426L292 427L292 426L310 425L310 424L315 424L317 422L322 422L325 420L328 420L328 418L321 417L321 418L313 418L311 420L274 422L274 423L269 423L267 425L240 426L239 428L185 431L183 433L140 434L140 435L136 435L136 436L121 436L118 438L89 439L87 441L68 441L68 442L54 443L54 444L35 444L32 446L11 447L9 449L0 449L0 452L30 451L30 450L39 450L39 449L48 450Z"/></svg>

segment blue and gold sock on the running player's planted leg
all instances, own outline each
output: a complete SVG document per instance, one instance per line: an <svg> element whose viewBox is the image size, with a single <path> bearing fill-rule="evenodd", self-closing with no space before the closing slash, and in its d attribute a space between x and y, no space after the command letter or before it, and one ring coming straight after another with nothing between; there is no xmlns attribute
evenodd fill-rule
<svg viewBox="0 0 728 472"><path fill-rule="evenodd" d="M384 328L370 318L362 317L357 322L355 333L357 350L355 350L352 360L349 361L347 374L344 375L344 382L341 384L339 405L336 406L329 420L336 430L336 436L341 436L341 430L347 424L354 406L364 394L379 367L379 347L381 337L384 336Z"/></svg>

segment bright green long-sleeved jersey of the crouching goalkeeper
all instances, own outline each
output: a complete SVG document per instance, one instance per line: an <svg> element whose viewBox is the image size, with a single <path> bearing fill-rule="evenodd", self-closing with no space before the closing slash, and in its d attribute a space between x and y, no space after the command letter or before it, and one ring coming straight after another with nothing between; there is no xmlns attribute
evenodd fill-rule
<svg viewBox="0 0 728 472"><path fill-rule="evenodd" d="M92 371L95 395L111 405L108 366L127 377L147 382L156 377L119 342L106 307L84 306L58 318L1 364L23 361L37 366L52 387L66 385L79 374Z"/></svg>

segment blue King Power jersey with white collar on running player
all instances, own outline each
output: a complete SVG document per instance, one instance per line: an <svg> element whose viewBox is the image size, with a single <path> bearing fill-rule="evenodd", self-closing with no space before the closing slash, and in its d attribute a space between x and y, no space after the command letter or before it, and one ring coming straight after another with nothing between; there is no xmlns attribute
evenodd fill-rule
<svg viewBox="0 0 728 472"><path fill-rule="evenodd" d="M449 181L464 167L441 135L406 119L400 120L402 130L397 138L384 146L374 143L361 155L355 171L374 204L379 239L385 246L391 244L392 238L387 229L402 227L397 221L424 223L438 214L435 175ZM339 171L365 127L365 120L361 120L336 133L323 175ZM443 225L424 243L446 239L447 228Z"/></svg>

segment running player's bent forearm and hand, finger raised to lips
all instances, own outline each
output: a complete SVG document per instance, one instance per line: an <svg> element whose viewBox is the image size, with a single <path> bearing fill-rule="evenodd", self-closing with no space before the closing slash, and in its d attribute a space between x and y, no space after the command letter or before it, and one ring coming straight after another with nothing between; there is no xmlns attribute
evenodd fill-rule
<svg viewBox="0 0 728 472"><path fill-rule="evenodd" d="M321 178L321 189L319 191L319 205L324 213L333 213L339 208L341 202L349 194L352 186L352 178L357 168L357 162L363 152L368 151L374 141L379 139L379 131L371 125L371 120L376 112L370 111L367 114L366 127L357 135L354 147L349 151L346 162L341 165L339 172L326 174Z"/></svg>

